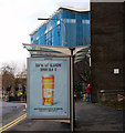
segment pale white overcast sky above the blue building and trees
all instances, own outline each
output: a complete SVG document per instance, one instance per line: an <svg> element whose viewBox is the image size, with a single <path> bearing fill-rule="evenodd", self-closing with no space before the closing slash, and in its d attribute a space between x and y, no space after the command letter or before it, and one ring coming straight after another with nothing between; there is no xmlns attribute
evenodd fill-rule
<svg viewBox="0 0 125 133"><path fill-rule="evenodd" d="M27 65L29 52L22 43L30 42L30 33L62 6L90 9L88 0L0 0L0 68Z"/></svg>

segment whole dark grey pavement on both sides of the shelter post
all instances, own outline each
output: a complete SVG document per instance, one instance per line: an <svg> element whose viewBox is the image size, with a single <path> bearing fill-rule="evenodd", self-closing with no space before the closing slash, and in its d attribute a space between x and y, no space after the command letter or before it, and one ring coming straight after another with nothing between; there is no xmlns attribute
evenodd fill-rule
<svg viewBox="0 0 125 133"><path fill-rule="evenodd" d="M75 102L75 131L123 131L123 111ZM70 131L69 123L24 119L8 131Z"/></svg>

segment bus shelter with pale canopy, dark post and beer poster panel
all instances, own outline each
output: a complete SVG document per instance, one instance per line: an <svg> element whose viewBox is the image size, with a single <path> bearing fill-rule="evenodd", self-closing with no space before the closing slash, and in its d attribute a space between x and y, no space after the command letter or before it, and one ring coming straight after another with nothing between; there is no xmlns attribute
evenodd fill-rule
<svg viewBox="0 0 125 133"><path fill-rule="evenodd" d="M90 45L65 48L25 44L28 59L28 117L67 121L74 131L73 65L90 54Z"/></svg>

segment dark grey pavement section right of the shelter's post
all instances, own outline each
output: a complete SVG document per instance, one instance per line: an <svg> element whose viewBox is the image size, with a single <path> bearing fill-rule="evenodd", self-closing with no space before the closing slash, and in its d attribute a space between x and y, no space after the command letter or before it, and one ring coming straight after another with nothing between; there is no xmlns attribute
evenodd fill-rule
<svg viewBox="0 0 125 133"><path fill-rule="evenodd" d="M87 102L76 109L76 131L123 131L123 111Z"/></svg>

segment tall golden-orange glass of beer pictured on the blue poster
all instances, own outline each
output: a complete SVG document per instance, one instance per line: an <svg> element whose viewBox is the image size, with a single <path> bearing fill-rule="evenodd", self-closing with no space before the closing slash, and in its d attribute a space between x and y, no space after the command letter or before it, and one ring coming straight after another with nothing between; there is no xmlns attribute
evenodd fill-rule
<svg viewBox="0 0 125 133"><path fill-rule="evenodd" d="M42 104L52 105L54 99L54 75L44 74L42 76Z"/></svg>

